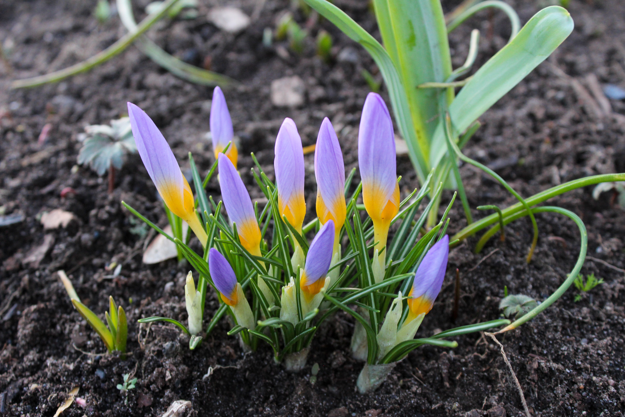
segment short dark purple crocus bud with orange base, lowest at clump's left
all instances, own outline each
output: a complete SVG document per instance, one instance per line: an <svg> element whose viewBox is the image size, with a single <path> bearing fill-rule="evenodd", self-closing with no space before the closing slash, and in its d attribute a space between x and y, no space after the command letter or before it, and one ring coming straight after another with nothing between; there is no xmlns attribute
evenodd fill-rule
<svg viewBox="0 0 625 417"><path fill-rule="evenodd" d="M234 270L224 255L217 249L211 248L208 253L208 267L211 272L212 283L221 294L221 300L225 302L234 313L237 324L247 329L254 329L254 316L241 284L237 282Z"/></svg>

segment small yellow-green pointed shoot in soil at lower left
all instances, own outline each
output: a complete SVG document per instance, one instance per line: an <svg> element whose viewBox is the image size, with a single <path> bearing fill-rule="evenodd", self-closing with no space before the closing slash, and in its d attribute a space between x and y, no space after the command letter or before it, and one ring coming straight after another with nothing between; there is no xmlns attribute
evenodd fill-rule
<svg viewBox="0 0 625 417"><path fill-rule="evenodd" d="M109 352L121 352L121 358L126 359L126 338L128 337L128 321L126 321L126 312L121 306L117 306L113 301L113 297L109 296L109 311L104 313L108 328L96 314L89 310L80 300L73 298L72 304L83 316L89 326L98 333L104 346Z"/></svg>

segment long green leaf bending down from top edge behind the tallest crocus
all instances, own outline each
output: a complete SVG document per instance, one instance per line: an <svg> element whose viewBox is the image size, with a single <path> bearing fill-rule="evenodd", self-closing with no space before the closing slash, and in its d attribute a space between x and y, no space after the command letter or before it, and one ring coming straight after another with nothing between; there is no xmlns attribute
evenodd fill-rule
<svg viewBox="0 0 625 417"><path fill-rule="evenodd" d="M377 67L382 73L384 82L386 83L391 97L391 104L395 121L399 127L401 135L406 140L408 146L410 159L412 165L417 171L419 180L421 182L425 180L427 172L427 154L424 155L419 148L417 135L414 130L414 125L411 120L410 106L408 105L408 98L406 96L406 90L402 85L401 78L397 73L397 68L393 64L393 61L386 49L376 41L376 39L362 29L352 18L347 16L341 9L334 6L326 0L304 0L309 4L317 13L321 14L324 18L334 23L337 28L341 29L342 33L349 36L350 39L361 44L364 49L371 55L371 58L376 62ZM434 0L430 0L434 1ZM444 26L443 26L444 29Z"/></svg>

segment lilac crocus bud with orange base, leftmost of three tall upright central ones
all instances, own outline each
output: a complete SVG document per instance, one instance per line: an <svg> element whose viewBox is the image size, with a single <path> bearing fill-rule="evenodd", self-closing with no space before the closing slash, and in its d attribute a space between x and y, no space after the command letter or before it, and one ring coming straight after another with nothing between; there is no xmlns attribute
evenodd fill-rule
<svg viewBox="0 0 625 417"><path fill-rule="evenodd" d="M276 186L278 209L282 216L301 233L306 200L304 200L304 150L295 122L284 119L276 138Z"/></svg>

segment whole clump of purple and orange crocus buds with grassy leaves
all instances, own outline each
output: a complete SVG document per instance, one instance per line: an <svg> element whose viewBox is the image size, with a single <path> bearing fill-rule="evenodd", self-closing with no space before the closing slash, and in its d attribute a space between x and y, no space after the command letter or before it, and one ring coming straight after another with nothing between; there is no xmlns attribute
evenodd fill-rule
<svg viewBox="0 0 625 417"><path fill-rule="evenodd" d="M209 284L221 307L208 331L227 314L233 324L229 334L239 334L247 348L266 342L276 361L297 370L306 361L319 323L344 309L356 317L361 331L359 337L354 335L360 345L354 351L364 353L367 361L358 383L363 392L386 379L392 369L389 364L419 344L434 343L413 338L441 291L449 252L446 225L441 222L417 239L423 223L419 220L413 225L413 221L429 188L400 200L392 120L381 96L370 93L364 103L358 136L362 182L351 195L354 172L346 182L339 139L329 119L322 121L314 154L316 217L307 224L304 152L290 118L284 120L276 138L275 182L259 165L257 171L252 170L267 197L261 209L252 203L237 172L232 121L219 88L213 93L210 119L221 188L217 204L212 199L207 203L202 187L215 167L203 184L197 183L199 173L194 172L194 198L158 128L137 106L129 103L128 111L139 155L159 194L204 247L201 256L176 239L200 276L197 289L191 273L187 276L189 328L176 322L181 328L201 337L203 306L200 309L198 302L206 297ZM361 193L364 210L357 204ZM389 230L396 222L402 227L389 241ZM316 234L309 243L313 230ZM354 304L357 309L350 307ZM453 347L455 342L436 344ZM294 357L299 359L289 360Z"/></svg>

